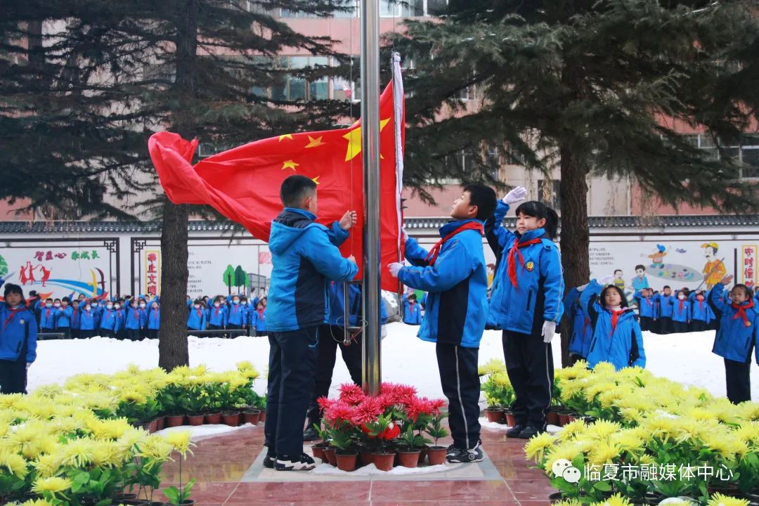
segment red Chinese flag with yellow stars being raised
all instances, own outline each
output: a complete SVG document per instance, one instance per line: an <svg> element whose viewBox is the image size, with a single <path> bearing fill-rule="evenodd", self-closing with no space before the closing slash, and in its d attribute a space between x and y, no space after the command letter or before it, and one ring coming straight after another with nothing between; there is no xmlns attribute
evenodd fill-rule
<svg viewBox="0 0 759 506"><path fill-rule="evenodd" d="M398 290L386 265L398 260L398 184L395 172L392 83L379 98L380 117L380 261L382 288ZM405 125L405 121L402 121ZM405 128L402 128L405 139ZM279 187L291 174L317 183L317 221L329 226L349 209L358 222L340 250L353 255L361 278L364 230L364 169L361 160L361 122L340 130L288 134L258 140L209 156L195 165L190 160L197 140L159 132L148 141L150 158L162 187L175 204L207 204L247 228L254 237L269 240L272 219L282 212Z"/></svg>

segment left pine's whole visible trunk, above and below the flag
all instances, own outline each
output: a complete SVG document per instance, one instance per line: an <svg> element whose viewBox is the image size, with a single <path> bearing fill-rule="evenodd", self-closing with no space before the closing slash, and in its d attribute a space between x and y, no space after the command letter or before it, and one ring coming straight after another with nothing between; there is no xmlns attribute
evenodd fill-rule
<svg viewBox="0 0 759 506"><path fill-rule="evenodd" d="M185 139L194 137L190 102L197 83L197 14L199 0L177 2L176 80L179 108L173 129ZM190 365L187 350L187 222L186 205L175 206L165 198L161 232L161 338L158 365L167 371Z"/></svg>

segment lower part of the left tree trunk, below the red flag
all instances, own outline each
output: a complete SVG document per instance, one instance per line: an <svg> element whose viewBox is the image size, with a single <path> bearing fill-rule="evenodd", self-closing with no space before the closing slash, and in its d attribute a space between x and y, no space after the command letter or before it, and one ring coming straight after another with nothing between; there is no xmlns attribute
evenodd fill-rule
<svg viewBox="0 0 759 506"><path fill-rule="evenodd" d="M158 365L166 371L190 365L187 350L187 206L165 199L161 232L161 333Z"/></svg>

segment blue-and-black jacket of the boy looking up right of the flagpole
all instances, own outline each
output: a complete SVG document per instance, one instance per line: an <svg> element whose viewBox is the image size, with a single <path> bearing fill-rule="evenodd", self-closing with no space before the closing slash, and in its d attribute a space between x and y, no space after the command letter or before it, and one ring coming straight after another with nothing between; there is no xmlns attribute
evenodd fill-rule
<svg viewBox="0 0 759 506"><path fill-rule="evenodd" d="M450 222L440 228L446 237L468 222ZM482 248L482 235L477 230L464 230L446 240L435 263L426 260L429 254L411 237L406 240L406 259L414 266L398 272L403 284L427 292L424 319L417 337L423 341L480 347L487 321L487 268Z"/></svg>

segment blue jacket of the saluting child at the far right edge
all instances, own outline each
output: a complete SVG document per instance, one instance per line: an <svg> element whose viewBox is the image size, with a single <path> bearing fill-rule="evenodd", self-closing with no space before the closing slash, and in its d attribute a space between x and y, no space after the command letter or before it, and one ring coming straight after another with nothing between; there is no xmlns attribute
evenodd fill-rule
<svg viewBox="0 0 759 506"><path fill-rule="evenodd" d="M727 360L746 362L751 359L751 349L754 348L755 360L759 363L759 317L756 308L745 310L750 324L746 325L739 316L739 311L731 303L722 300L723 290L723 285L717 283L709 292L709 305L720 319L712 353ZM742 305L748 306L748 303Z"/></svg>

